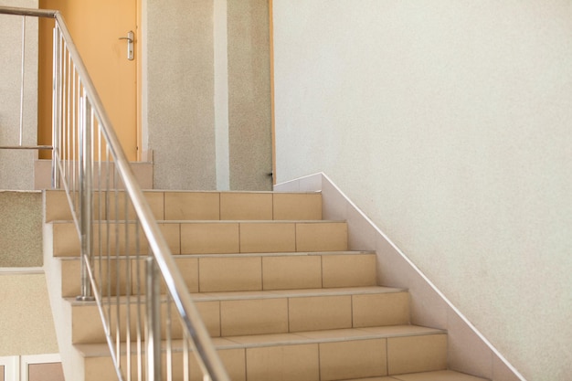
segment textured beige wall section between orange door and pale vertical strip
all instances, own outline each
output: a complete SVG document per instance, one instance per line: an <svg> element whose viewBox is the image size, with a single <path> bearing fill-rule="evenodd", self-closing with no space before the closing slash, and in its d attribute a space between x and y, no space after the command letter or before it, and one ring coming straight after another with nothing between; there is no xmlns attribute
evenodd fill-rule
<svg viewBox="0 0 572 381"><path fill-rule="evenodd" d="M215 189L213 3L145 3L143 149L154 153L154 187Z"/></svg>

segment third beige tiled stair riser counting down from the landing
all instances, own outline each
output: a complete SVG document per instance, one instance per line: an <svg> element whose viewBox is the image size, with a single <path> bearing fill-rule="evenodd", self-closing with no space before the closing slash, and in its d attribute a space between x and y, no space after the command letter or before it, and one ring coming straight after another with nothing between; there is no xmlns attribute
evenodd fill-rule
<svg viewBox="0 0 572 381"><path fill-rule="evenodd" d="M317 251L257 254L175 255L175 263L191 292L270 291L376 286L376 254L369 251ZM116 261L119 260L119 267ZM125 294L127 274L137 287L137 259L111 258L111 294ZM60 258L62 296L79 294L79 258ZM101 263L101 264L100 264ZM108 279L107 259L95 260L96 274ZM119 277L117 270L119 269ZM140 284L143 280L140 280ZM119 284L119 288L118 288ZM105 288L107 291L107 288Z"/></svg>

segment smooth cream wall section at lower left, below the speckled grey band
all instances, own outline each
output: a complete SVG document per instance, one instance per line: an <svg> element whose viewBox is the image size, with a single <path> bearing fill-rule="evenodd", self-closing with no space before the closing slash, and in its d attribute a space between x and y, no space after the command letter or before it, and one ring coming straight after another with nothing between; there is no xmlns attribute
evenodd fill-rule
<svg viewBox="0 0 572 381"><path fill-rule="evenodd" d="M58 353L43 273L0 272L0 301L0 356Z"/></svg>

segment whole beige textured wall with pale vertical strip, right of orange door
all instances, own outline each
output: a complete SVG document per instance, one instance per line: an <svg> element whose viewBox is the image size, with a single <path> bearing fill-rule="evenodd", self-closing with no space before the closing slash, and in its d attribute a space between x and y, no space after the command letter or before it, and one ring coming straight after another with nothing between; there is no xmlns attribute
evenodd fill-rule
<svg viewBox="0 0 572 381"><path fill-rule="evenodd" d="M154 187L270 189L267 0L143 0L142 10Z"/></svg>

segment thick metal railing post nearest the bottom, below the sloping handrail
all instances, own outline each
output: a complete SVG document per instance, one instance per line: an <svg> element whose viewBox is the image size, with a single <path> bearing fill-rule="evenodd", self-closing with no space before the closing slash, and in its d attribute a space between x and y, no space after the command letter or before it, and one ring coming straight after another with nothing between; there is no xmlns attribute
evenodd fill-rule
<svg viewBox="0 0 572 381"><path fill-rule="evenodd" d="M161 380L161 302L159 268L154 257L147 257L145 276L145 299L146 299L146 358L147 358L147 381Z"/></svg>

